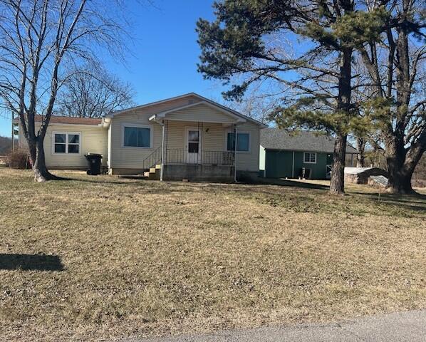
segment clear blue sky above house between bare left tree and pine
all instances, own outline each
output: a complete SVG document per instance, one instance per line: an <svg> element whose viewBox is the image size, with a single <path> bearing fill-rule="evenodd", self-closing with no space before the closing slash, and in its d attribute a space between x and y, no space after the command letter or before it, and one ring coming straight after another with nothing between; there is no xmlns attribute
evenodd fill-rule
<svg viewBox="0 0 426 342"><path fill-rule="evenodd" d="M222 100L217 81L205 81L197 73L199 46L195 23L213 19L210 0L155 0L154 6L134 6L131 47L127 63L105 60L107 68L133 84L135 102L147 103L195 92ZM10 118L0 116L0 135L10 135Z"/></svg>

